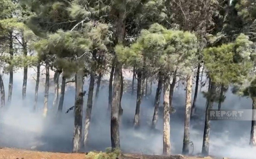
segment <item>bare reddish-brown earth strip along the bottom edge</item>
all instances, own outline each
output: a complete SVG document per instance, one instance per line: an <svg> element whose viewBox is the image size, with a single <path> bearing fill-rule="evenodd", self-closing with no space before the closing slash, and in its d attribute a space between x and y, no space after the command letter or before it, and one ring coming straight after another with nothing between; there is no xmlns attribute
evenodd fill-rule
<svg viewBox="0 0 256 159"><path fill-rule="evenodd" d="M0 148L0 159L94 159L94 158L92 158L91 155L87 155L85 153L38 152L38 151L28 151L28 150L21 150L21 149ZM182 155L161 156L161 155L124 154L120 157L120 159L218 159L218 158L186 157Z"/></svg>

